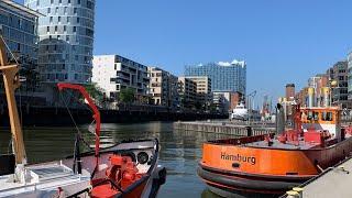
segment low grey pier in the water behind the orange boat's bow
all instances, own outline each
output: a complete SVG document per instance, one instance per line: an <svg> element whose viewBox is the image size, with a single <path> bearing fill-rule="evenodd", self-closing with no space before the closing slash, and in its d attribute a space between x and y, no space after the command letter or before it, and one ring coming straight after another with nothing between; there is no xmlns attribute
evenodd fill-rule
<svg viewBox="0 0 352 198"><path fill-rule="evenodd" d="M219 133L239 136L253 136L261 134L274 133L273 125L258 125L258 124L240 124L231 122L175 122L174 129L185 131L198 131L206 133Z"/></svg>

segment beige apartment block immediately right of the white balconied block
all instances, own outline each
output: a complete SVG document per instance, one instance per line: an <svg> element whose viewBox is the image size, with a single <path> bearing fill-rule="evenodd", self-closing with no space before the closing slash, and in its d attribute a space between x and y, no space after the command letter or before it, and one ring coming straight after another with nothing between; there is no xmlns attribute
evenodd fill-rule
<svg viewBox="0 0 352 198"><path fill-rule="evenodd" d="M177 108L178 100L178 78L170 73L158 67L148 67L150 77L148 95L152 102L157 106Z"/></svg>

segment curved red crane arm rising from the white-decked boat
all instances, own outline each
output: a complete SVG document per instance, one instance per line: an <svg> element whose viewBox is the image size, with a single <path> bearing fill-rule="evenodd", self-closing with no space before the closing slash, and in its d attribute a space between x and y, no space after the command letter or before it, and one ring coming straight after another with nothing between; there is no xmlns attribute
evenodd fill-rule
<svg viewBox="0 0 352 198"><path fill-rule="evenodd" d="M86 91L85 87L80 85L74 85L74 84L65 84L61 82L57 84L58 90L62 91L63 89L74 89L78 90L85 99L88 101L88 106L92 109L94 116L92 118L96 120L96 158L97 158L97 166L99 164L99 144L100 144L100 112L99 109L97 108L96 103L94 100L90 98L89 94Z"/></svg>

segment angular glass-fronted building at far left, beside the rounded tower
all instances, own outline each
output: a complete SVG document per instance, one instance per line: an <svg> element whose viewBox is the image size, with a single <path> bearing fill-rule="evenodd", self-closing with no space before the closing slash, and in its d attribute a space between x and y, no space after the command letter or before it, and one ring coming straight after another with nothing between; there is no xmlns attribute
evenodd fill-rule
<svg viewBox="0 0 352 198"><path fill-rule="evenodd" d="M33 92L38 86L37 73L37 18L40 13L14 1L0 1L0 34L11 53L21 64L20 75L28 80L21 90ZM10 61L14 62L10 52Z"/></svg>

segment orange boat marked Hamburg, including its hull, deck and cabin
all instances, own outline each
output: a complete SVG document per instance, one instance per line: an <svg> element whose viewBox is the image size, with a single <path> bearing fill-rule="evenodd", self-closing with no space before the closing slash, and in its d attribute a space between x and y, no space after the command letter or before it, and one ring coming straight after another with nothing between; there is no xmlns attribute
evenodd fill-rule
<svg viewBox="0 0 352 198"><path fill-rule="evenodd" d="M210 190L282 194L319 175L352 152L336 107L294 108L294 129L279 134L209 141L198 175Z"/></svg>

